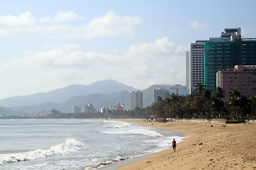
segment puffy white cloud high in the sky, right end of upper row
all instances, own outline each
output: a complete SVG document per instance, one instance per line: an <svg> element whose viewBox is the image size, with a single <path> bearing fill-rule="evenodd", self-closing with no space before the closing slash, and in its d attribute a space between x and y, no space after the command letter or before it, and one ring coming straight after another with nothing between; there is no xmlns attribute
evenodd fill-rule
<svg viewBox="0 0 256 170"><path fill-rule="evenodd" d="M110 11L78 28L76 36L83 38L129 36L133 35L134 26L141 22L139 17L124 16L121 18Z"/></svg>

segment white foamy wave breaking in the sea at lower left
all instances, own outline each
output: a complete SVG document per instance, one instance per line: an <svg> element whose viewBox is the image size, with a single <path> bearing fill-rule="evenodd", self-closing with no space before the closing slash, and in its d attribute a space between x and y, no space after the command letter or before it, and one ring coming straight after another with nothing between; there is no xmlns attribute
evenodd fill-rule
<svg viewBox="0 0 256 170"><path fill-rule="evenodd" d="M38 149L31 152L21 152L14 154L0 154L0 164L23 162L43 157L53 157L58 154L67 154L70 152L77 152L79 149L85 148L82 142L75 139L68 139L65 143L55 145L50 149Z"/></svg>

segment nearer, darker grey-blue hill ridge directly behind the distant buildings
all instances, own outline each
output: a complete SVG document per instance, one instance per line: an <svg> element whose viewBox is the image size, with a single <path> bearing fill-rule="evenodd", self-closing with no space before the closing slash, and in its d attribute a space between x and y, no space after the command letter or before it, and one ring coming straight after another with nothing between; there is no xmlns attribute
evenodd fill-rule
<svg viewBox="0 0 256 170"><path fill-rule="evenodd" d="M178 86L178 94L186 95L188 94L188 90L185 89L185 86L181 85L153 85L148 89L143 91L143 106L150 106L151 101L153 101L153 89L161 88L161 89L171 89L171 93L176 93L176 87ZM132 90L131 90L132 91ZM10 107L11 111L15 113L27 113L30 114L34 111L50 111L51 109L57 109L63 113L70 113L72 106L87 106L87 104L92 104L97 111L100 111L102 106L109 107L110 105L117 105L117 103L122 104L124 98L124 107L129 109L129 92L130 91L114 91L111 94L89 94L87 96L74 96L70 98L68 101L63 103L54 103L54 102L46 102L39 103L31 106L14 106ZM0 112L1 114L1 112Z"/></svg>

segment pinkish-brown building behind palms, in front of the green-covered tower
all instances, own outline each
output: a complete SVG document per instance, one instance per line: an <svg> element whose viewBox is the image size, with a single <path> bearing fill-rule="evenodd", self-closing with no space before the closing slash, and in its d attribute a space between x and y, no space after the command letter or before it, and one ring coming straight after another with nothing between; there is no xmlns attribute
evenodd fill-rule
<svg viewBox="0 0 256 170"><path fill-rule="evenodd" d="M256 65L235 65L234 69L220 70L216 73L217 86L225 91L225 99L234 88L245 96L256 95Z"/></svg>

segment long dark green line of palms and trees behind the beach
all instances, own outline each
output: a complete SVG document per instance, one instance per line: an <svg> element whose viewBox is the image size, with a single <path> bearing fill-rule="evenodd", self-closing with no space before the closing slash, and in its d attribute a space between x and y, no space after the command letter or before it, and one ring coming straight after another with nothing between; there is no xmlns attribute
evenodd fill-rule
<svg viewBox="0 0 256 170"><path fill-rule="evenodd" d="M135 108L134 111L108 111L107 113L58 113L46 116L11 115L1 119L29 118L225 118L245 120L256 117L256 96L244 96L239 89L230 89L228 100L225 91L217 87L210 91L201 83L196 85L197 96L178 96L171 94L165 100L158 98L153 106Z"/></svg>

